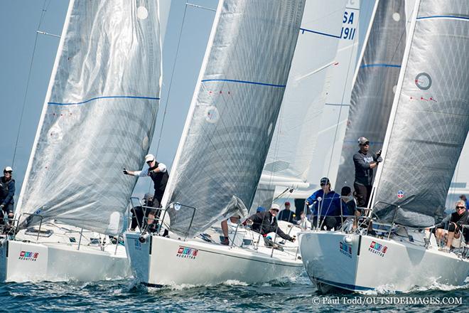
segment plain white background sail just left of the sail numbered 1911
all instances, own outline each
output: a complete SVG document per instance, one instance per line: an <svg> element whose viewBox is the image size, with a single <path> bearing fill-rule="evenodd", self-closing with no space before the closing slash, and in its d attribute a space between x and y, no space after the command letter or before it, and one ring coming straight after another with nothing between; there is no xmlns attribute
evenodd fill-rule
<svg viewBox="0 0 469 313"><path fill-rule="evenodd" d="M335 66L345 0L307 1L288 84L259 184L308 189L308 172L328 92L328 68ZM264 189L259 189L265 190Z"/></svg>

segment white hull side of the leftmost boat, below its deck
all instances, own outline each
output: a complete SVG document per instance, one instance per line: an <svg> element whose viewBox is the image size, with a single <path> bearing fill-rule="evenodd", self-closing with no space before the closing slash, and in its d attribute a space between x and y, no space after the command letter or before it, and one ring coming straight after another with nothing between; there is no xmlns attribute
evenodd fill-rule
<svg viewBox="0 0 469 313"><path fill-rule="evenodd" d="M76 246L58 243L3 240L0 245L0 281L92 282L129 277L124 247L120 245L116 255L109 250L89 247L77 250Z"/></svg>

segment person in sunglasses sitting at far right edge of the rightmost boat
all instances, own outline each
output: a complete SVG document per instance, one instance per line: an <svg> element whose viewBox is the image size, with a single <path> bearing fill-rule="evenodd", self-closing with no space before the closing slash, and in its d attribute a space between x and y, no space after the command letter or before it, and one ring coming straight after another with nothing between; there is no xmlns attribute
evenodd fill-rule
<svg viewBox="0 0 469 313"><path fill-rule="evenodd" d="M453 238L459 239L463 226L469 225L469 212L466 210L465 201L456 201L456 211L443 218L443 221L435 225L435 237L438 243L441 243L445 235L448 235L446 245L441 250L449 252L451 245L453 244ZM445 226L448 224L448 230ZM468 229L463 230L464 242L469 240Z"/></svg>

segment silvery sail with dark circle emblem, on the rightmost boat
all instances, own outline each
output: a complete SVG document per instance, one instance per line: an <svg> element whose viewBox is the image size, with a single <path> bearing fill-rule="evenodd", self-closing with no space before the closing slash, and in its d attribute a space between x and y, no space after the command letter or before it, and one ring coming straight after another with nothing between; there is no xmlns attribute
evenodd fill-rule
<svg viewBox="0 0 469 313"><path fill-rule="evenodd" d="M422 0L416 7L374 210L384 221L426 227L444 209L469 131L469 6Z"/></svg>

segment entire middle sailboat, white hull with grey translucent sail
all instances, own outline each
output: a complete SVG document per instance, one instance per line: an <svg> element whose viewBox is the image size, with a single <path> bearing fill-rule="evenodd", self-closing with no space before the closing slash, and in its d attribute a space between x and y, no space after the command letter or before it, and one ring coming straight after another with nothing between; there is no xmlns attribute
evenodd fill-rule
<svg viewBox="0 0 469 313"><path fill-rule="evenodd" d="M296 253L197 236L247 216L295 50L305 1L220 1L163 196L169 237L124 234L134 276L149 286L266 282L301 271ZM242 229L239 233L243 233ZM247 238L244 238L247 239Z"/></svg>

